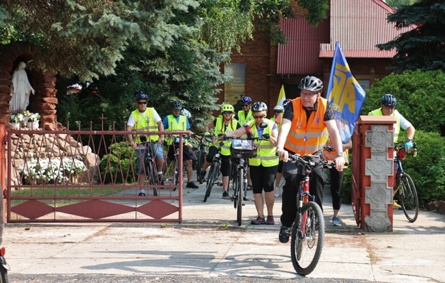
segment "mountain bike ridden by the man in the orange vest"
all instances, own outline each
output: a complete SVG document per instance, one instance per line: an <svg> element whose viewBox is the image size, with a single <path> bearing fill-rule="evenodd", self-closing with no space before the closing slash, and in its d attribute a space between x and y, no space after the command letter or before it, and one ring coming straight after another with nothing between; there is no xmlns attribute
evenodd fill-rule
<svg viewBox="0 0 445 283"><path fill-rule="evenodd" d="M290 255L296 273L307 275L314 271L320 260L325 240L325 219L320 206L309 193L310 174L318 166L330 168L334 161L322 160L317 155L289 154L288 162L298 164L301 181L298 185L297 213L290 228Z"/></svg>

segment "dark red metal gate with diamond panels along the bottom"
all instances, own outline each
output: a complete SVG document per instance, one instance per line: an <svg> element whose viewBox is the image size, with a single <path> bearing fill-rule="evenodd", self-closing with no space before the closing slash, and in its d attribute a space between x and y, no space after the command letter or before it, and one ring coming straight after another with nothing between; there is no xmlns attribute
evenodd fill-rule
<svg viewBox="0 0 445 283"><path fill-rule="evenodd" d="M166 162L164 185L138 185L135 149L127 139L136 131L5 131L0 124L0 133L8 222L182 221L183 184L173 185ZM185 132L174 133L182 139ZM173 132L138 132L158 134ZM138 196L140 188L146 196Z"/></svg>

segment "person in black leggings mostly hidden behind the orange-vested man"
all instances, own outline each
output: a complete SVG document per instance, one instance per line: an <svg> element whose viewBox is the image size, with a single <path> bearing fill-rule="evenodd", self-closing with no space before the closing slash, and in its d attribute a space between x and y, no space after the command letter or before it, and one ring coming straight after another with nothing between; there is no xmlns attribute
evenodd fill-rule
<svg viewBox="0 0 445 283"><path fill-rule="evenodd" d="M331 147L331 140L329 139L326 147ZM349 142L342 144L343 156L346 161L348 161L348 150L353 147L353 142L349 139ZM337 152L335 150L329 151L326 148L323 150L323 155L326 160L334 160L337 157ZM346 166L345 166L346 168ZM331 176L331 196L332 196L332 226L341 226L340 219L338 218L338 213L340 212L340 206L342 206L342 183L344 178L344 170L338 171L334 167L329 169L329 175Z"/></svg>

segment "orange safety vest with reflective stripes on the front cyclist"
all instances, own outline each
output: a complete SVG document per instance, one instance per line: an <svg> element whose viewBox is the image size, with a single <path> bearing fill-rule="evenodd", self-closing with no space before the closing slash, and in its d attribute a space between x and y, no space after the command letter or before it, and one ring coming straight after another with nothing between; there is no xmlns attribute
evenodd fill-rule
<svg viewBox="0 0 445 283"><path fill-rule="evenodd" d="M325 123L327 100L318 98L317 111L312 111L309 120L307 120L301 98L295 98L291 102L294 108L294 118L284 147L301 155L313 154L321 150L329 137Z"/></svg>

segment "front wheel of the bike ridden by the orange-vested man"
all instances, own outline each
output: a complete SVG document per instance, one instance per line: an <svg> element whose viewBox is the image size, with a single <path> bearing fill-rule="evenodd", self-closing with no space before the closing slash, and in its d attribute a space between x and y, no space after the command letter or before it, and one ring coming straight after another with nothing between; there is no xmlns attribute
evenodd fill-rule
<svg viewBox="0 0 445 283"><path fill-rule="evenodd" d="M296 273L307 275L314 271L320 260L325 241L325 219L320 206L315 202L303 204L302 211L301 228L298 227L298 213L292 226L290 253Z"/></svg>

